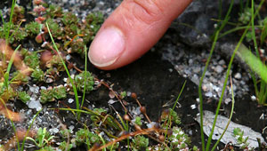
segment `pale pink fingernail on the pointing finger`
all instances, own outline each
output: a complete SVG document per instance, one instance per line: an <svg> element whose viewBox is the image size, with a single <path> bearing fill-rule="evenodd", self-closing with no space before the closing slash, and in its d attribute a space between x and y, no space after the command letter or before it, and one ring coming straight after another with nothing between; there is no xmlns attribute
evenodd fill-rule
<svg viewBox="0 0 267 151"><path fill-rule="evenodd" d="M89 48L89 60L97 67L112 65L125 49L125 39L117 28L105 28L95 36Z"/></svg>

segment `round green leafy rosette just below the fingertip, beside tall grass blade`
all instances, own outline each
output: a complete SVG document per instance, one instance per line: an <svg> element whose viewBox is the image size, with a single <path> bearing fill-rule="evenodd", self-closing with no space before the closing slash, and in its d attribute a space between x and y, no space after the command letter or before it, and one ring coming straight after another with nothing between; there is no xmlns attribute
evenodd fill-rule
<svg viewBox="0 0 267 151"><path fill-rule="evenodd" d="M84 91L85 88L85 92L93 91L93 79L94 78L89 71L83 71L79 75L75 76L74 81L77 86L77 90Z"/></svg>

